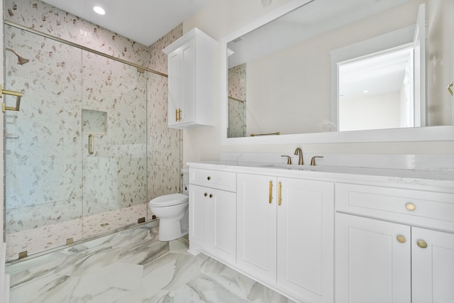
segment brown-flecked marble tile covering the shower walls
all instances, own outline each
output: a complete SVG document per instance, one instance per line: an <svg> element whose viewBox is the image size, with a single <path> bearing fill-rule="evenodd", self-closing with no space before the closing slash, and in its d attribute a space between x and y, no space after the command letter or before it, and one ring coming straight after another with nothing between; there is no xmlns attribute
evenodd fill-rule
<svg viewBox="0 0 454 303"><path fill-rule="evenodd" d="M165 73L167 58L161 50L182 35L179 26L150 48L41 1L5 0L4 12L6 20ZM30 254L61 246L66 238L77 241L137 222L146 216L149 199L179 191L182 136L167 128L167 78L140 74L128 65L11 26L5 31L6 47L31 60L17 65L13 53L6 52L7 88L24 92L28 109L21 106L21 114L44 121L37 128L27 119L16 128L18 113L6 116L9 133L22 137L7 139L12 157L6 165L16 165L15 170L6 167L16 172L7 180L13 185L8 194L15 197L6 208L7 242L14 250L7 252L9 260L27 250L24 242L33 241ZM48 84L43 85L43 79ZM138 103L145 93L148 104ZM105 112L109 119L106 134L94 137L94 155L87 153L82 108ZM51 126L50 117L55 116L57 123ZM24 140L28 132L33 136ZM52 153L43 157L45 148ZM18 156L21 149L30 156ZM17 194L18 186L28 190ZM86 218L83 224L81 214ZM33 228L31 233L28 228ZM40 248L38 240L43 242Z"/></svg>

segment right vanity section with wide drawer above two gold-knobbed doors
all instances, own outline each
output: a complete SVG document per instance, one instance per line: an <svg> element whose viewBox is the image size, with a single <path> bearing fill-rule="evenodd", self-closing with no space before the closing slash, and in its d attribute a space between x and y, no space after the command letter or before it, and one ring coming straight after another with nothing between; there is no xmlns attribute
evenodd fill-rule
<svg viewBox="0 0 454 303"><path fill-rule="evenodd" d="M454 194L336 184L335 297L454 302Z"/></svg>

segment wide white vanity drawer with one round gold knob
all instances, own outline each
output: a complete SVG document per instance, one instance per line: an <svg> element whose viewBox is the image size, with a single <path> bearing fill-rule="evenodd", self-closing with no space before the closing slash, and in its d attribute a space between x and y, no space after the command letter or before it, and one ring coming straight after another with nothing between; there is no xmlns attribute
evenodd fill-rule
<svg viewBox="0 0 454 303"><path fill-rule="evenodd" d="M336 211L392 219L392 214L454 222L454 194L336 184Z"/></svg>

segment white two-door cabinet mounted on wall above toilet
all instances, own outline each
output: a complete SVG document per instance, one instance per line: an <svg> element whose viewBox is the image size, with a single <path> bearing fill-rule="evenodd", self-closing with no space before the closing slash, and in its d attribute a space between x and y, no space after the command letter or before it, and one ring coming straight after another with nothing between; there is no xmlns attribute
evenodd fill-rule
<svg viewBox="0 0 454 303"><path fill-rule="evenodd" d="M168 55L170 128L214 125L214 48L216 40L193 28L171 45Z"/></svg>

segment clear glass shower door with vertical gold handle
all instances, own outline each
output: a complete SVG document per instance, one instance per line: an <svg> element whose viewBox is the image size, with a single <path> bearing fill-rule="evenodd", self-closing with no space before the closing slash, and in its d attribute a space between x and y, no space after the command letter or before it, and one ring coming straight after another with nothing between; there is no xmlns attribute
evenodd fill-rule
<svg viewBox="0 0 454 303"><path fill-rule="evenodd" d="M92 155L89 133L83 135L84 236L91 236L146 217L146 79L135 67L86 51L83 64L83 107L106 113L105 134L92 134Z"/></svg>

